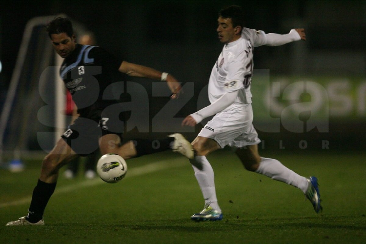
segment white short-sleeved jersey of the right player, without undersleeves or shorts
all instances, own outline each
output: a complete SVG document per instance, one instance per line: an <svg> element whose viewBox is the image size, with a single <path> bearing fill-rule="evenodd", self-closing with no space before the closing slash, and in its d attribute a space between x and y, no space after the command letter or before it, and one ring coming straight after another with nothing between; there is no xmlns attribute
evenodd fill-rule
<svg viewBox="0 0 366 244"><path fill-rule="evenodd" d="M240 104L251 103L250 84L253 73L253 49L256 46L264 45L265 42L266 34L264 31L243 28L242 35L238 40L224 45L210 75L208 93L211 103L223 94L236 90L239 90L239 93L235 102L225 110Z"/></svg>

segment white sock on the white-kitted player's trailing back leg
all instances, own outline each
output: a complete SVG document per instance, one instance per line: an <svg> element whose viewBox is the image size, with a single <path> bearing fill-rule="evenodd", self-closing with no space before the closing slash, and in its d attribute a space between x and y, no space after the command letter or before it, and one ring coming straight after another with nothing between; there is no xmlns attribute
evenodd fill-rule
<svg viewBox="0 0 366 244"><path fill-rule="evenodd" d="M306 193L309 182L305 177L296 174L294 171L286 168L280 161L273 158L262 158L259 167L255 172L264 174L273 180L282 181L286 184L299 188Z"/></svg>

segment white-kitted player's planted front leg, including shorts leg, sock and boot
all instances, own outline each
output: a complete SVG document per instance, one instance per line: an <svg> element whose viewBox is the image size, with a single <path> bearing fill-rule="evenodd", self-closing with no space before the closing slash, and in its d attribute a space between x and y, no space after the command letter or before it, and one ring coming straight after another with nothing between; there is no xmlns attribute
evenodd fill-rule
<svg viewBox="0 0 366 244"><path fill-rule="evenodd" d="M249 112L248 112L249 110ZM217 203L214 172L206 155L231 143L251 125L251 105L216 114L192 142L196 156L190 162L205 199L205 208L191 218L196 221L223 218Z"/></svg>

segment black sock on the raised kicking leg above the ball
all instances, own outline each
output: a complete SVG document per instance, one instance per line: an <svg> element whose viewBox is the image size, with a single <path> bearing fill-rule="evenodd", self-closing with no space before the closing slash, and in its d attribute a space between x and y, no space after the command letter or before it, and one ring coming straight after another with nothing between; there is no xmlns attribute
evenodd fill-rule
<svg viewBox="0 0 366 244"><path fill-rule="evenodd" d="M174 137L167 137L164 139L135 139L135 148L137 151L136 157L140 157L146 154L158 153L166 151L172 148L171 144L174 141Z"/></svg>

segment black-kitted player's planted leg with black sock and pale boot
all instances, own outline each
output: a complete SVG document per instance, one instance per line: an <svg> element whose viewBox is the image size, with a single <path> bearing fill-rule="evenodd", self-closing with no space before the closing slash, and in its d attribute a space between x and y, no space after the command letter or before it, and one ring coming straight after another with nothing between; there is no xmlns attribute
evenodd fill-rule
<svg viewBox="0 0 366 244"><path fill-rule="evenodd" d="M65 140L60 139L42 161L40 179L33 190L28 215L6 225L44 225L43 213L55 191L59 169L75 156L75 152Z"/></svg>

